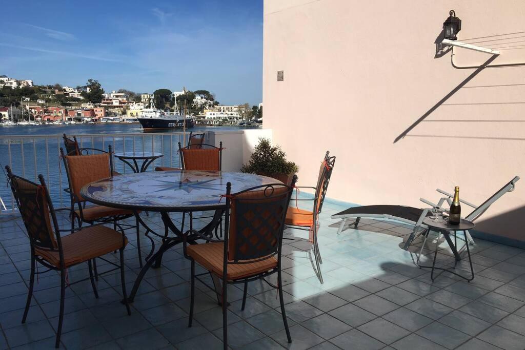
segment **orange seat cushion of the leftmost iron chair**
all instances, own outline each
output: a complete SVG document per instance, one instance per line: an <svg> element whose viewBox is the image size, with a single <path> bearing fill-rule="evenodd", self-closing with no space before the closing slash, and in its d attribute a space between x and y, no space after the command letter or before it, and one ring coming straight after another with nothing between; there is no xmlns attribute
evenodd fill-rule
<svg viewBox="0 0 525 350"><path fill-rule="evenodd" d="M122 234L106 226L91 226L61 237L64 251L64 267L100 257L122 248ZM124 247L128 239L124 240ZM48 251L35 248L35 254L51 265L60 268L58 250Z"/></svg>

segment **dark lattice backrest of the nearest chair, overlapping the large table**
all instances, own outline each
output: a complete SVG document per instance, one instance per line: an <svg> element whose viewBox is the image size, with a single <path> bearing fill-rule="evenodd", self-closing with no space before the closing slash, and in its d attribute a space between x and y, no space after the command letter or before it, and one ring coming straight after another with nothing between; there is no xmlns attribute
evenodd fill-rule
<svg viewBox="0 0 525 350"><path fill-rule="evenodd" d="M226 186L226 236L224 259L228 263L265 260L278 254L292 186L270 184L230 194Z"/></svg>

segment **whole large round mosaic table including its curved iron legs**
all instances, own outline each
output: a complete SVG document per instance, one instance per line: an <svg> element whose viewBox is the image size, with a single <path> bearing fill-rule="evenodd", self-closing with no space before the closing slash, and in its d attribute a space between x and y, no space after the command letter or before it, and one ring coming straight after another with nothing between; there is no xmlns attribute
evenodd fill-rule
<svg viewBox="0 0 525 350"><path fill-rule="evenodd" d="M274 178L247 173L163 171L113 176L82 187L80 190L82 197L91 203L132 210L146 229L146 237L152 242L150 253L145 258L146 263L129 295L129 302L133 302L146 271L153 266L153 263L155 267L160 267L162 254L183 241L184 214L180 229L169 214L215 210L212 220L203 228L196 230L198 233L189 232L186 239L188 242L193 242L202 235L213 235L213 231L220 225L226 205L226 201L220 199L226 193L228 182L232 183L232 193L259 185L280 183ZM144 210L160 213L164 224L162 234L155 232L140 217L139 212ZM162 239L162 244L156 252L150 234Z"/></svg>

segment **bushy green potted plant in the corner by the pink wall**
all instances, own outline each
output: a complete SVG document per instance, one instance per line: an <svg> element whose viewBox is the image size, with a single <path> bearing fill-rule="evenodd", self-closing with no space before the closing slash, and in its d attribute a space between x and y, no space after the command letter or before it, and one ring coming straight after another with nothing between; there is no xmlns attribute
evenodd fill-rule
<svg viewBox="0 0 525 350"><path fill-rule="evenodd" d="M272 177L287 185L298 170L299 167L295 163L286 160L286 152L281 146L272 146L270 140L265 137L259 137L259 144L255 146L249 163L240 169L243 173Z"/></svg>

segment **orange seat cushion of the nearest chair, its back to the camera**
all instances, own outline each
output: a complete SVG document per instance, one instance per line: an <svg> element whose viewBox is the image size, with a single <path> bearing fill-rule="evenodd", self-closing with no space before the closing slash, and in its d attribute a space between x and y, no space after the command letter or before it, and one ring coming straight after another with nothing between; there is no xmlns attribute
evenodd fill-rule
<svg viewBox="0 0 525 350"><path fill-rule="evenodd" d="M224 263L224 243L204 243L199 245L188 246L187 253L202 267L222 277ZM249 261L249 260L246 260ZM231 262L231 261L230 261ZM245 262L245 261L243 261ZM265 260L254 263L228 264L228 280L237 280L240 278L255 276L259 273L277 267L277 259L269 257Z"/></svg>

